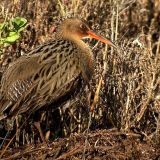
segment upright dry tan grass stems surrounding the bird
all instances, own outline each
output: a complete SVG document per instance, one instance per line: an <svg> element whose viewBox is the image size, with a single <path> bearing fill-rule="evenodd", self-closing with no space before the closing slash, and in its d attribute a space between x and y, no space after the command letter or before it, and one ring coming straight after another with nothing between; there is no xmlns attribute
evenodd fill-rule
<svg viewBox="0 0 160 160"><path fill-rule="evenodd" d="M54 107L38 111L17 136L20 145L39 141L37 131L29 127L37 115L41 115L43 131L50 134L50 140L85 131L93 98L91 130L115 127L125 133L138 133L145 140L160 144L159 3L159 0L154 3L151 0L1 0L0 21L22 16L29 23L16 47L3 49L1 74L10 61L51 39L54 36L51 28L67 16L83 17L94 30L110 37L119 46L114 50L94 40L88 41L97 63L91 82L95 92L102 77L98 97L94 94L89 97L89 90L85 87L59 110L55 111L52 105Z"/></svg>

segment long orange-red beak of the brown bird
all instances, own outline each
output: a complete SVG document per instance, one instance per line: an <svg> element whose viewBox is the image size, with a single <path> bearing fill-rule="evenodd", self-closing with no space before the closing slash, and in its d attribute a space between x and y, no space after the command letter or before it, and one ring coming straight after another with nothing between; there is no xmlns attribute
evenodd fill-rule
<svg viewBox="0 0 160 160"><path fill-rule="evenodd" d="M96 40L99 40L99 41L101 41L103 43L106 43L108 45L111 45L112 47L117 48L117 46L112 41L110 41L109 39L106 39L102 36L99 36L99 35L95 34L93 31L88 31L87 33L88 33L89 37L94 38Z"/></svg>

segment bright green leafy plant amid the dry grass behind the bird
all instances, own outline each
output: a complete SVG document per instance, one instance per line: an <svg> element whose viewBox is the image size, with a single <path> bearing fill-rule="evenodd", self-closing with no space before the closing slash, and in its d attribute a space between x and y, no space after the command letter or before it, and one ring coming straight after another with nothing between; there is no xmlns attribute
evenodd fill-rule
<svg viewBox="0 0 160 160"><path fill-rule="evenodd" d="M15 43L27 25L27 20L22 17L15 17L10 21L0 24L0 46L6 47Z"/></svg>

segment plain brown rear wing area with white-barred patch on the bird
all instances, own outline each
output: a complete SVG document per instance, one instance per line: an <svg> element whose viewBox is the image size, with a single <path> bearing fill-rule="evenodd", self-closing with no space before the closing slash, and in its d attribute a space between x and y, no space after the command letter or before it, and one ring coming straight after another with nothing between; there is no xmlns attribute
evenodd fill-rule
<svg viewBox="0 0 160 160"><path fill-rule="evenodd" d="M2 77L2 95L17 101L32 85L31 76L40 66L38 56L23 56L12 63Z"/></svg>

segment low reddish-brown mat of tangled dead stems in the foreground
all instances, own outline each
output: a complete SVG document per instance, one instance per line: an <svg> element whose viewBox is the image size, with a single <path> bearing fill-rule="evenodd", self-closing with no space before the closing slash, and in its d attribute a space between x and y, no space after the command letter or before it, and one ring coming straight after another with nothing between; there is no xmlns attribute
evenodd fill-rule
<svg viewBox="0 0 160 160"><path fill-rule="evenodd" d="M158 160L159 146L134 133L117 130L96 130L88 134L72 134L47 144L27 145L8 149L4 160L10 159L86 159L86 160Z"/></svg>

